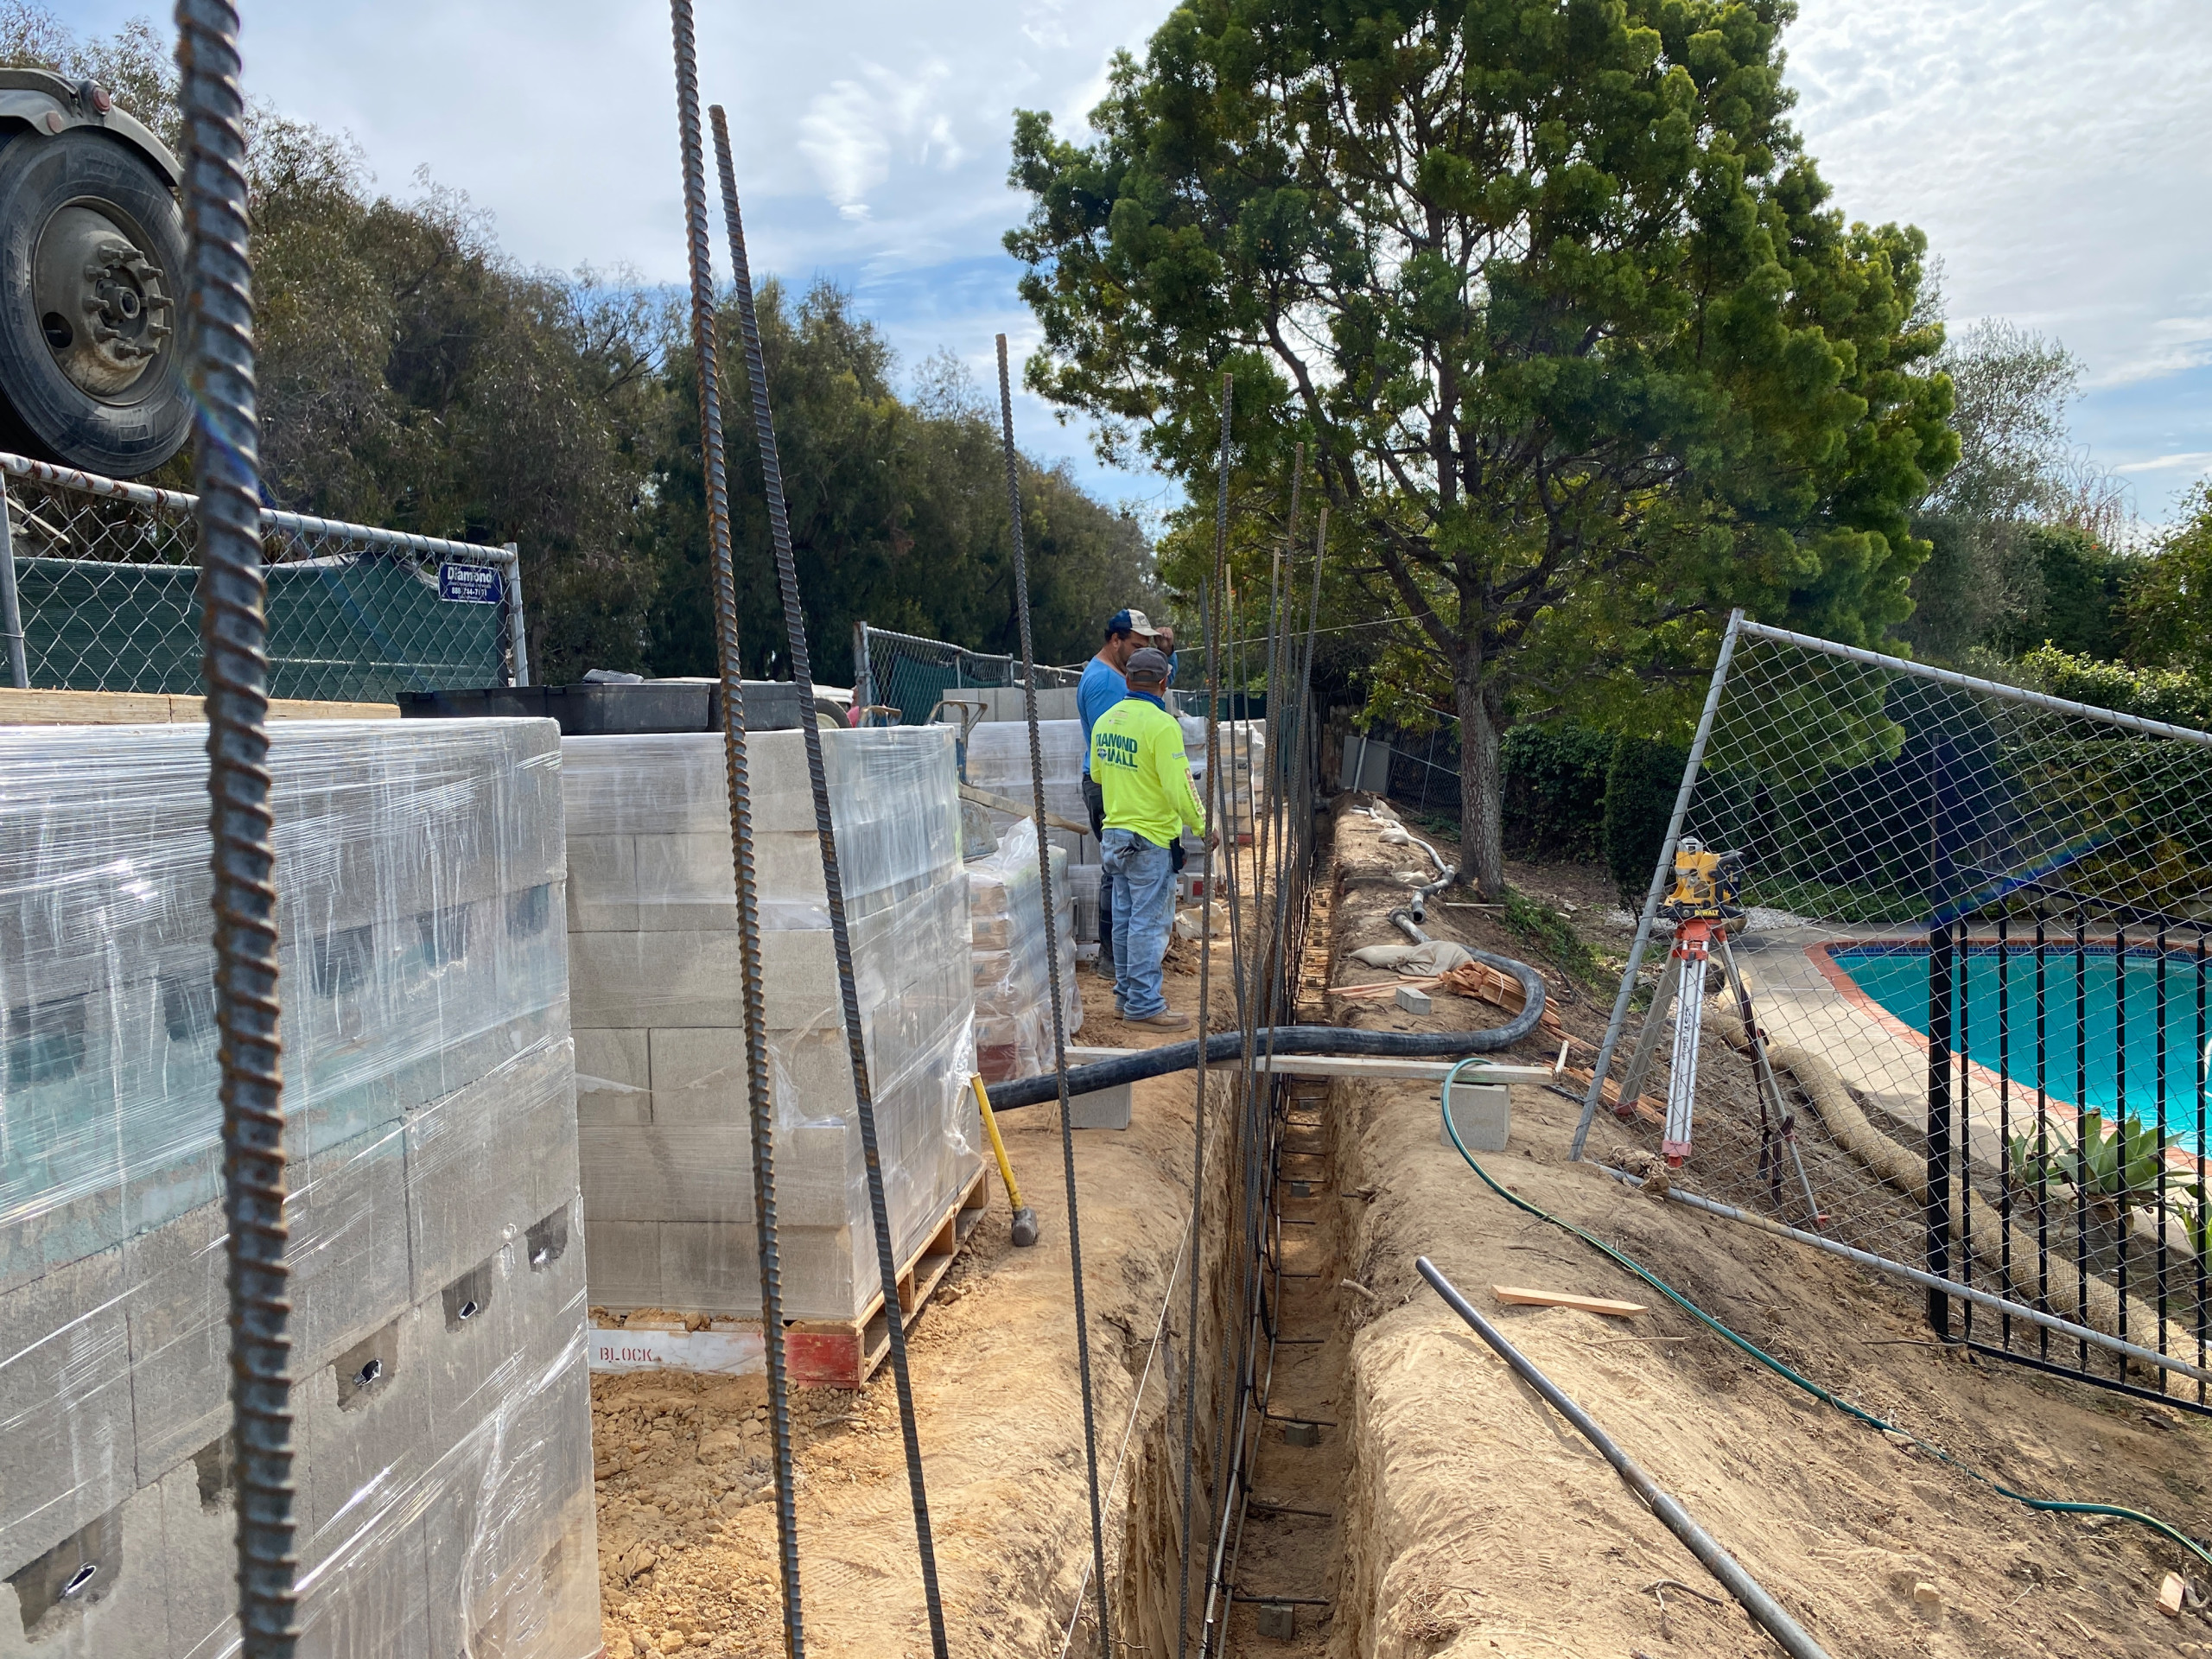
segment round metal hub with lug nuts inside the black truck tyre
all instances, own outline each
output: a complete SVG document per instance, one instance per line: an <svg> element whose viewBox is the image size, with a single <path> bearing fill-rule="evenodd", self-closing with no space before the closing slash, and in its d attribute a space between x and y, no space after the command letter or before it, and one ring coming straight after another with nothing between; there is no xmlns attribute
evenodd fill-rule
<svg viewBox="0 0 2212 1659"><path fill-rule="evenodd" d="M62 374L95 398L128 394L175 327L159 265L108 215L73 204L46 221L31 270Z"/></svg>

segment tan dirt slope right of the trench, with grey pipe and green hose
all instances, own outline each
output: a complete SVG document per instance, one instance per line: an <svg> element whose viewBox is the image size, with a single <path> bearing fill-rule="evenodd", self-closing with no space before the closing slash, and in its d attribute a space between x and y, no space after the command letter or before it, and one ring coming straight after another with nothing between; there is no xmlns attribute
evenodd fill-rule
<svg viewBox="0 0 2212 1659"><path fill-rule="evenodd" d="M1389 872L1407 863L1405 849L1383 847L1354 816L1340 821L1338 863L1338 949L1391 938ZM1595 885L1579 872L1511 874L1533 894ZM1599 896L1582 900L1590 920L1601 916ZM1500 916L1431 905L1429 931L1528 956ZM1626 942L1590 933L1601 949ZM1486 1022L1469 1020L1469 1006L1440 998L1427 1018L1356 1018L1400 1029ZM1562 1013L1568 1031L1595 1040L1606 995L1584 989ZM1743 1062L1717 1042L1701 1082L1701 1137L1756 1110ZM1593 1411L1838 1659L2212 1650L2203 1613L2172 1619L2157 1610L2168 1571L2212 1588L2194 1557L2130 1522L2037 1515L1809 1400L1577 1239L1489 1192L1440 1144L1433 1088L1360 1084L1338 1093L1338 1110L1340 1186L1352 1194L1345 1270L1374 1301L1343 1303L1356 1325L1354 1482L1332 1652L1774 1652L1597 1453L1429 1292L1413 1272L1418 1254ZM1566 1164L1575 1117L1575 1102L1515 1088L1511 1146L1484 1166L1960 1462L2037 1495L2148 1509L2199 1537L2212 1531L2205 1420L1960 1360L1929 1343L1918 1292L1666 1210L1590 1166ZM1593 1150L1606 1150L1608 1135L1648 1139L1601 1117ZM1491 1294L1498 1283L1659 1307L1632 1321L1502 1310Z"/></svg>

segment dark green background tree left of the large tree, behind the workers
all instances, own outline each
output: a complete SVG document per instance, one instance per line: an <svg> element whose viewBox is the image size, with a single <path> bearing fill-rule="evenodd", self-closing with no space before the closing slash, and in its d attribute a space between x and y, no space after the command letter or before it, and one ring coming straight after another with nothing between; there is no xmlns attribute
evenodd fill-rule
<svg viewBox="0 0 2212 1659"><path fill-rule="evenodd" d="M942 354L922 365L918 396L902 400L891 347L832 283L792 301L781 283L765 281L754 299L816 670L825 679L847 672L852 626L863 619L975 650L1018 653L998 411L984 405L964 367ZM783 606L752 400L737 396L743 358L734 305L723 305L721 327L721 361L730 365L723 409L732 411L739 637L745 670L774 675L783 666ZM648 655L668 675L714 670L695 372L688 352L670 354L670 425L639 526L661 595ZM1157 593L1137 522L1091 500L1064 471L1026 458L1022 529L1042 661L1088 655L1108 615Z"/></svg>

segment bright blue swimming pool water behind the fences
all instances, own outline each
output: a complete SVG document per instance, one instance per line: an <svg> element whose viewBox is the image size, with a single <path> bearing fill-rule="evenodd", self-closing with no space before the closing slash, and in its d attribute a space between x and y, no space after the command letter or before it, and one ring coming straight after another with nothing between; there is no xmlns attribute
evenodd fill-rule
<svg viewBox="0 0 2212 1659"><path fill-rule="evenodd" d="M1929 953L1922 947L1845 947L1836 967L1851 982L1913 1031L1929 1029ZM1978 945L1953 960L1953 1048L2011 1077L2022 1088L2039 1088L2048 1073L2053 1099L2075 1102L2106 1117L2126 1110L2146 1124L2159 1115L2159 958L2128 951L2126 969L2110 949L2077 953L2046 949L2042 1068L2037 1068L2035 951L2011 947L2000 953ZM2166 1128L2185 1135L2194 1148L2201 1104L2199 967L2194 953L2166 958ZM2126 982L2126 1053L2119 1044L2121 980ZM1964 1020L1964 1044L1958 1042ZM2208 1022L2212 1024L2212 1022ZM2126 1060L2126 1066L2121 1066Z"/></svg>

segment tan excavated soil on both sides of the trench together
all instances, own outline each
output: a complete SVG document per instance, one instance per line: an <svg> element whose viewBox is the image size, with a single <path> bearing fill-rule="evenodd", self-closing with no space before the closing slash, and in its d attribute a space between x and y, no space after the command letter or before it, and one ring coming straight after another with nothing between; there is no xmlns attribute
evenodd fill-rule
<svg viewBox="0 0 2212 1659"><path fill-rule="evenodd" d="M1447 858L1453 847L1440 843ZM1405 849L1360 816L1338 818L1338 953L1394 942ZM1615 971L1626 931L1610 883L1582 867L1511 867ZM1502 911L1431 905L1438 938L1524 956L1544 971L1564 1031L1595 1046L1610 984L1577 984L1504 927ZM1190 967L1188 947L1179 947ZM1217 956L1217 969L1221 958ZM1225 980L1225 975L1221 975ZM1387 978L1345 967L1338 982ZM1086 1004L1110 1006L1099 980ZM1192 1009L1194 978L1170 975ZM1486 1004L1440 995L1431 1015L1332 1006L1352 1024L1498 1024ZM1214 1024L1232 1022L1217 982ZM1084 1042L1137 1044L1108 1018ZM1551 1062L1557 1037L1524 1062ZM1582 1051L1588 1064L1588 1048ZM1252 1467L1254 1511L1225 1624L1232 1655L1770 1655L1690 1553L1619 1478L1429 1292L1429 1254L1506 1334L1672 1491L1829 1655L2212 1652L2192 1606L2154 1601L2168 1571L2212 1588L2194 1557L2124 1520L2037 1515L1955 1467L1847 1420L1725 1347L1688 1316L1628 1321L1502 1310L1498 1283L1657 1301L1584 1243L1491 1194L1438 1139L1433 1086L1298 1088L1283 1201L1270 1422ZM1577 1091L1579 1093L1579 1091ZM1137 1086L1135 1128L1079 1133L1086 1294L1099 1460L1113 1480L1108 1577L1121 1652L1175 1650L1181 1329L1179 1267L1190 1201L1192 1084ZM1214 1099L1221 1099L1217 1095ZM1717 1040L1701 1060L1699 1148L1714 1164L1756 1146L1745 1062ZM2208 1422L2079 1383L1962 1360L1929 1340L1918 1292L1630 1192L1566 1161L1577 1106L1513 1091L1509 1150L1491 1172L1528 1201L1606 1237L1714 1316L1913 1436L2015 1489L2148 1509L2212 1531ZM1210 1119L1228 1119L1210 1110ZM1091 1559L1084 1440L1068 1312L1066 1199L1053 1108L1004 1119L1044 1243L1013 1250L1002 1192L949 1283L911 1332L920 1442L956 1655L1057 1655ZM1648 1150L1648 1124L1601 1117L1590 1150ZM1734 1150L1730 1150L1734 1148ZM1228 1170L1219 1141L1208 1168ZM1812 1177L1838 1208L1887 1197L1816 1135ZM1225 1183L1208 1181L1210 1239ZM1301 1225L1312 1221L1314 1225ZM1221 1250L1201 1279L1199 1413L1228 1294ZM1345 1281L1352 1281L1349 1285ZM1155 1338L1166 1332L1166 1340ZM595 1378L606 1644L639 1655L781 1652L774 1520L761 1383ZM889 1371L858 1394L799 1396L799 1540L807 1646L816 1655L927 1655L914 1517ZM1294 1444L1294 1420L1318 1444ZM1115 1467L1119 1462L1119 1475ZM1201 1484L1212 1469L1201 1451ZM1201 1517L1203 1520L1203 1517ZM1259 1635L1259 1601L1296 1595L1296 1635ZM1086 1597L1086 1608L1095 1597ZM1088 1617L1073 1652L1097 1652Z"/></svg>

